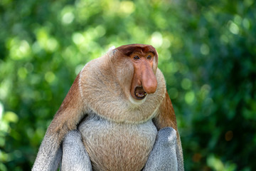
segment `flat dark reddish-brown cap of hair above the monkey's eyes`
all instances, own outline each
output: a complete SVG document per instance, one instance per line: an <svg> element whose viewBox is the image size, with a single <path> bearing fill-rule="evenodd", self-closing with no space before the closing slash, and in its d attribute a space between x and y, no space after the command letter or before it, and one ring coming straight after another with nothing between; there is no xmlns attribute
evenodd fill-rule
<svg viewBox="0 0 256 171"><path fill-rule="evenodd" d="M153 53L154 56L157 56L156 49L151 45L144 45L144 44L130 44L119 46L116 48L117 51L124 54L125 56L130 56L132 53L137 53L142 56L145 56L148 53Z"/></svg>

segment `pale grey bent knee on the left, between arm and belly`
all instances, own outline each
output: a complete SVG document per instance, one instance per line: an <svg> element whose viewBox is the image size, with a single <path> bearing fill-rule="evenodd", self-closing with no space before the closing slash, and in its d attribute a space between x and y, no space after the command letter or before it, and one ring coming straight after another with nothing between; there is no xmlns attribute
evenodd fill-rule
<svg viewBox="0 0 256 171"><path fill-rule="evenodd" d="M78 130L71 130L63 140L62 171L92 170L89 155L82 143L82 136Z"/></svg>

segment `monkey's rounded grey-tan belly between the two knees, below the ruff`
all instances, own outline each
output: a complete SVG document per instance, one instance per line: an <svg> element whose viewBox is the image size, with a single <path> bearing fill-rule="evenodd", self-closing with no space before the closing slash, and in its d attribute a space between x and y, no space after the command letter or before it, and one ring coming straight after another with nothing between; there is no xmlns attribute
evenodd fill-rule
<svg viewBox="0 0 256 171"><path fill-rule="evenodd" d="M156 127L118 124L89 117L79 127L93 170L142 170L156 139Z"/></svg>

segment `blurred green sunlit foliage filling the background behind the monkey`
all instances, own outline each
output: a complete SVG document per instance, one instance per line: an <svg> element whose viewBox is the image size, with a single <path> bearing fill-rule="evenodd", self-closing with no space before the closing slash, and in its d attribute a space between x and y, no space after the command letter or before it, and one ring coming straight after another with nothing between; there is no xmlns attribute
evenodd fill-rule
<svg viewBox="0 0 256 171"><path fill-rule="evenodd" d="M256 3L0 1L0 170L30 170L82 66L153 45L186 170L256 170Z"/></svg>

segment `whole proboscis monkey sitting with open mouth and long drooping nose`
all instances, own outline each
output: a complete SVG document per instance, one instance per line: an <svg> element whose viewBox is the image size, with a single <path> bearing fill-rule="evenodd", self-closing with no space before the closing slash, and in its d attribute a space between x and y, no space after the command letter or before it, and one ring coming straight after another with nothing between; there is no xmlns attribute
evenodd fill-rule
<svg viewBox="0 0 256 171"><path fill-rule="evenodd" d="M150 45L111 49L82 68L32 170L183 170L176 116Z"/></svg>

